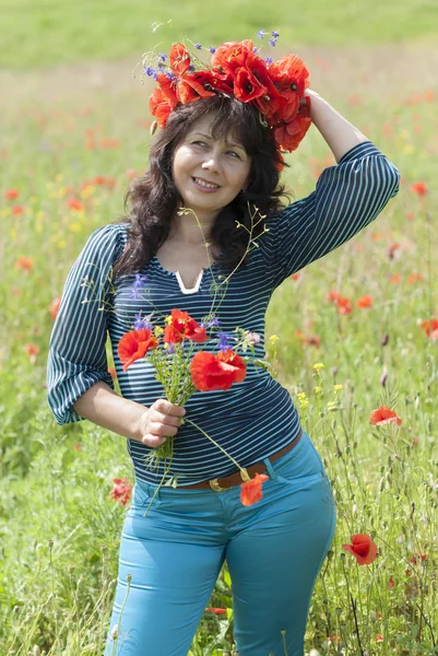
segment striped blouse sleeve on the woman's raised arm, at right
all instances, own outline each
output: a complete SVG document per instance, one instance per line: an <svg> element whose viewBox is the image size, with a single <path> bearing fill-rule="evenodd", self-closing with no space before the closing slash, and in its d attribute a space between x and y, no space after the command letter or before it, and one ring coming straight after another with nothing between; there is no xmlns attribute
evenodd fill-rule
<svg viewBox="0 0 438 656"><path fill-rule="evenodd" d="M273 286L368 225L399 186L398 168L370 141L325 168L310 196L267 221L260 250Z"/></svg>

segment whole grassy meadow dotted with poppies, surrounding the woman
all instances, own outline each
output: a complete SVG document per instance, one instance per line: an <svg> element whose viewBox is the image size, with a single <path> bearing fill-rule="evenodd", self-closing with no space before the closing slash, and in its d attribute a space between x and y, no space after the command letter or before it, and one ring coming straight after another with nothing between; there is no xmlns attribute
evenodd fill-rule
<svg viewBox="0 0 438 656"><path fill-rule="evenodd" d="M152 21L175 21L176 11L177 36L205 44L227 38L229 25L236 38L281 25L284 43L303 44L317 90L402 173L377 222L277 290L267 335L279 337L269 355L338 505L307 653L438 654L438 341L422 327L438 319L438 84L427 46L437 14L431 2L374 4L313 0L296 11L298 30L289 5L268 13L261 3L223 4L215 20L206 3L213 17L205 9L201 24L197 5L167 3L164 15L151 7L143 33L140 2L0 2L0 66L26 69L0 72L10 85L0 101L1 656L102 655L127 511L109 493L115 478L132 482L132 469L122 437L88 422L58 426L47 408L51 304L87 236L120 215L129 179L146 166L147 93L131 83L131 58L151 47ZM360 50L356 35L367 44ZM407 51L393 44L411 40L421 43ZM90 59L118 57L96 69ZM36 70L60 62L72 66ZM288 162L286 180L301 198L334 160L311 128ZM328 300L333 290L351 312ZM370 304L360 307L364 296ZM370 425L380 403L400 426ZM378 546L367 566L342 548L358 532ZM225 613L205 612L191 656L232 652L226 569L209 607Z"/></svg>

